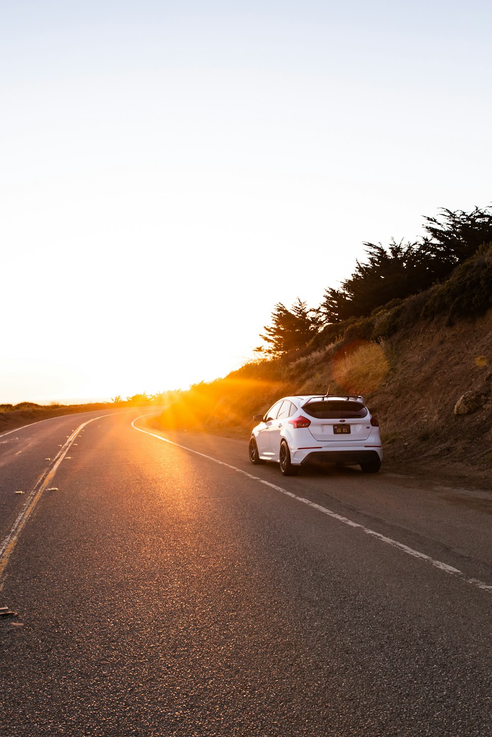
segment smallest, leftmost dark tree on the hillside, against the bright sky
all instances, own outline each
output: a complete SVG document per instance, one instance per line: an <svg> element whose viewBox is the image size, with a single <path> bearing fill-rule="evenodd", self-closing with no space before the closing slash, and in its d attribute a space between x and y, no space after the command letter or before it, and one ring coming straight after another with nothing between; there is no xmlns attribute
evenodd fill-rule
<svg viewBox="0 0 492 737"><path fill-rule="evenodd" d="M264 353L280 356L303 348L319 328L320 317L317 310L308 309L306 302L302 302L299 297L290 310L278 302L272 312L272 324L265 325L265 335L260 335L268 343Z"/></svg>

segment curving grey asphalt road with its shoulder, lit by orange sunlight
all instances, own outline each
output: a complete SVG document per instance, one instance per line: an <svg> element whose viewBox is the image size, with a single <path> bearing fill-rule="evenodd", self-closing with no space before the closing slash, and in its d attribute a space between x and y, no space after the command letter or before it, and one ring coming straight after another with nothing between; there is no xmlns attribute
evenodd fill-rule
<svg viewBox="0 0 492 737"><path fill-rule="evenodd" d="M492 736L490 494L102 414L0 436L2 735Z"/></svg>

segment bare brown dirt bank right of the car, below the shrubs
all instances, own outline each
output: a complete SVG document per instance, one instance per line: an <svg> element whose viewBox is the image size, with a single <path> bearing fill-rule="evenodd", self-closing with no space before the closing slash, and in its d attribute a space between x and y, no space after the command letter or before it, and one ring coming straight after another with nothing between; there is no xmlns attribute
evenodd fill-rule
<svg viewBox="0 0 492 737"><path fill-rule="evenodd" d="M369 403L379 414L385 459L491 488L492 310L452 326L445 318L415 324L383 348L390 369ZM479 407L455 414L470 391L481 395Z"/></svg>

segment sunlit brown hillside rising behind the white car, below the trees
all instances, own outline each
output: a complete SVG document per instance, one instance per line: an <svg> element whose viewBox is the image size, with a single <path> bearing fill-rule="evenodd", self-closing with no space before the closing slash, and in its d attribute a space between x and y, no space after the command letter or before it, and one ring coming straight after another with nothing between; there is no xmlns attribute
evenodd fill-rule
<svg viewBox="0 0 492 737"><path fill-rule="evenodd" d="M492 258L482 249L443 284L328 325L305 349L248 363L175 397L158 427L247 438L284 394L362 394L394 469L492 478ZM466 392L474 408L455 414ZM444 464L443 461L446 461ZM445 466L445 469L443 468ZM483 481L483 483L482 483Z"/></svg>

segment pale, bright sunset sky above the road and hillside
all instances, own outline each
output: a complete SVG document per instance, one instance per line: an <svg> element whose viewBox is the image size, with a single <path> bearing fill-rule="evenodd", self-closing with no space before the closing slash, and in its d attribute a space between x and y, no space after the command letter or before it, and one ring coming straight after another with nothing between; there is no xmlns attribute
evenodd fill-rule
<svg viewBox="0 0 492 737"><path fill-rule="evenodd" d="M0 403L239 368L365 241L491 203L492 6L2 0Z"/></svg>

